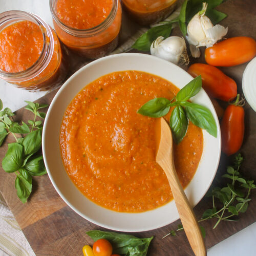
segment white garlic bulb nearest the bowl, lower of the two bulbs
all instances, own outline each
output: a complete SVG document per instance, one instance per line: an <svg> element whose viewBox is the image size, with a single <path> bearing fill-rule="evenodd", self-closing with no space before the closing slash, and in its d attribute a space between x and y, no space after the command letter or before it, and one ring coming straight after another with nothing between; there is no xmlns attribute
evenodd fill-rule
<svg viewBox="0 0 256 256"><path fill-rule="evenodd" d="M187 65L189 58L186 51L185 40L179 36L170 36L164 39L162 36L153 41L150 52L152 55L166 59L175 64Z"/></svg>

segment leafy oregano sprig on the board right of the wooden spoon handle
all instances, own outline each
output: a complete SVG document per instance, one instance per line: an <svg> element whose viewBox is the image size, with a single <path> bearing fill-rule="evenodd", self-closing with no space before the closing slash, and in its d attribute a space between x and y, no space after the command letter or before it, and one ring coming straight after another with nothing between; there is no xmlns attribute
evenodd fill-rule
<svg viewBox="0 0 256 256"><path fill-rule="evenodd" d="M213 229L215 229L221 221L238 221L235 217L246 212L251 190L256 188L253 180L248 180L241 175L239 169L243 162L241 154L236 156L233 166L227 167L227 173L222 175L227 178L228 182L223 187L212 187L206 194L212 198L212 208L204 211L202 218L198 222L203 222L208 219L216 218ZM222 205L218 208L218 205ZM163 238L167 236L176 236L176 232L183 230L183 226L178 225L176 230L170 230ZM205 230L201 227L205 234Z"/></svg>

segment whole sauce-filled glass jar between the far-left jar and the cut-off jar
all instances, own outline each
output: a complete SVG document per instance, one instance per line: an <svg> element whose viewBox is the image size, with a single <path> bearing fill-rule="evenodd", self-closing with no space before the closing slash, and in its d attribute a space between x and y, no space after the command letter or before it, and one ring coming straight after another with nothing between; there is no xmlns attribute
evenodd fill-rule
<svg viewBox="0 0 256 256"><path fill-rule="evenodd" d="M50 0L53 24L60 40L87 58L99 58L118 44L119 0Z"/></svg>

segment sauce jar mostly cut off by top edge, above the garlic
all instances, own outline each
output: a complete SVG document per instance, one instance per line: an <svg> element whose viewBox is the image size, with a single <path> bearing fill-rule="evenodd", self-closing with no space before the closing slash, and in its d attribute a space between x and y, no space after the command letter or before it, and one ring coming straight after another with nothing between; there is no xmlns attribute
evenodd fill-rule
<svg viewBox="0 0 256 256"><path fill-rule="evenodd" d="M160 22L172 13L177 0L122 0L127 13L141 25Z"/></svg>

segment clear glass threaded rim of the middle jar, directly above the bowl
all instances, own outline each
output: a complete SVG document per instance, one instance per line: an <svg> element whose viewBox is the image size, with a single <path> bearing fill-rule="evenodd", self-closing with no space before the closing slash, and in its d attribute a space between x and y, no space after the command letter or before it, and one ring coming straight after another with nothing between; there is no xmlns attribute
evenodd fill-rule
<svg viewBox="0 0 256 256"><path fill-rule="evenodd" d="M102 31L104 31L106 28L108 28L117 13L117 9L118 9L118 1L119 0L112 0L112 9L110 11L110 14L103 20L102 23L98 24L95 27L89 28L89 29L77 29L77 28L72 28L68 25L66 25L65 23L62 23L61 20L58 18L57 14L56 14L56 4L57 4L58 0L50 0L50 11L52 14L52 17L54 19L54 21L57 23L57 25L66 33L73 35L73 36L77 36L77 37L90 37L92 35L97 35L100 34Z"/></svg>

